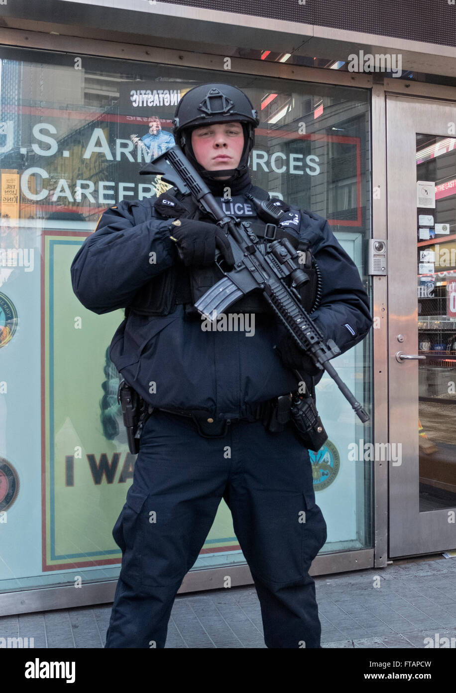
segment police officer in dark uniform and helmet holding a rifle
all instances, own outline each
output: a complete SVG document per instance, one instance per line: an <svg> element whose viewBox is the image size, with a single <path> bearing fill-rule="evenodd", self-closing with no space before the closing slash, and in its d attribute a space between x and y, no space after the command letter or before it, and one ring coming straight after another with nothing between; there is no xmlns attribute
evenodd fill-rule
<svg viewBox="0 0 456 693"><path fill-rule="evenodd" d="M265 231L252 198L268 195L248 170L259 124L250 100L230 85L194 87L174 123L176 143L216 199L250 223L265 249L271 227ZM275 238L309 251L302 305L326 339L347 351L372 325L356 266L324 218L280 205ZM309 568L326 541L326 524L308 450L291 421L278 428L271 421L277 424L279 402L297 389L293 369L310 392L321 373L261 292L230 306L230 313L255 319L254 333L202 329L194 303L223 277L217 250L230 265L221 229L190 195L171 188L155 201L124 200L105 211L71 266L73 290L86 308L100 315L125 308L110 356L151 412L113 528L122 568L109 648L165 647L174 597L221 498L255 582L266 646L320 647Z"/></svg>

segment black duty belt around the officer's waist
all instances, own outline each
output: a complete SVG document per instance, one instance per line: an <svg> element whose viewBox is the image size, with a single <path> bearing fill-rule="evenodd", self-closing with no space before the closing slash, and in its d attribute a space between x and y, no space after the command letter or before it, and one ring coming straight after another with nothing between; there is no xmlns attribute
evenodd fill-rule
<svg viewBox="0 0 456 693"><path fill-rule="evenodd" d="M197 426L199 435L203 438L222 438L226 435L230 423L237 421L250 421L252 423L253 421L262 421L268 430L278 432L283 430L284 424L290 419L291 396L274 397L257 405L246 405L246 407L248 408L248 413L241 419L221 419L221 421L215 421L204 410L189 411L149 406L149 413L152 414L154 409L156 409L167 414L176 414L176 416L185 416L188 419L192 419Z"/></svg>

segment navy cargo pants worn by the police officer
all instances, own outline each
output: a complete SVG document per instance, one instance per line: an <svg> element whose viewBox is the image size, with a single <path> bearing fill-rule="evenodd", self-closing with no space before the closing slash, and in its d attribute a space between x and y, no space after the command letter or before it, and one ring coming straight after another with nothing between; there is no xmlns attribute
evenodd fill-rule
<svg viewBox="0 0 456 693"><path fill-rule="evenodd" d="M209 439L190 419L154 410L113 528L122 568L105 647L165 647L174 597L221 498L255 581L266 647L320 647L308 571L326 523L292 426L271 433L260 421L232 421Z"/></svg>

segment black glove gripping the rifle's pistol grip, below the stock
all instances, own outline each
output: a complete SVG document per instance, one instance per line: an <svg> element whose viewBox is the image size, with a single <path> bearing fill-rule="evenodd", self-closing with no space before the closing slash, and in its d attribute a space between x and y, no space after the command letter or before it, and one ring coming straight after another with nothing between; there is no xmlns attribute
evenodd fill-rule
<svg viewBox="0 0 456 693"><path fill-rule="evenodd" d="M172 225L171 238L178 245L186 267L210 265L215 261L216 247L228 265L235 264L228 238L219 226L195 219L176 219Z"/></svg>

